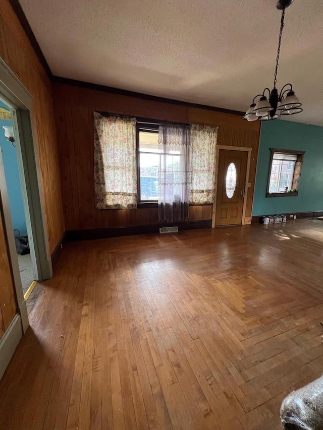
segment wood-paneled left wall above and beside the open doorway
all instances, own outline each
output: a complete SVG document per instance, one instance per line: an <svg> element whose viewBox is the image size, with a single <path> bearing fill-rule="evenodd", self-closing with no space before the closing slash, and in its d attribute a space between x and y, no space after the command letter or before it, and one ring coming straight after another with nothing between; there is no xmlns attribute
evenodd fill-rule
<svg viewBox="0 0 323 430"><path fill-rule="evenodd" d="M0 3L0 55L34 97L32 118L38 140L42 193L49 250L64 231L61 183L51 83L34 52L9 0Z"/></svg>

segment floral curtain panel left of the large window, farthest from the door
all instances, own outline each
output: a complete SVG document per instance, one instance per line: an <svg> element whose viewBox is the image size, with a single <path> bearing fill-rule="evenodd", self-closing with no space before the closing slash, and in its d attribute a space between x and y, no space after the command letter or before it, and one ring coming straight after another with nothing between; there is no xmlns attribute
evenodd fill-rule
<svg viewBox="0 0 323 430"><path fill-rule="evenodd" d="M135 118L94 112L94 187L98 209L137 207Z"/></svg>

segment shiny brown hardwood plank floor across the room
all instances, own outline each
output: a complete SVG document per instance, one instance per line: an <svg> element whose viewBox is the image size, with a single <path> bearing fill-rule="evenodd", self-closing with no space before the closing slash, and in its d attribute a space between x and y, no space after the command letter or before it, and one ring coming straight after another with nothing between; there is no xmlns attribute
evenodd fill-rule
<svg viewBox="0 0 323 430"><path fill-rule="evenodd" d="M323 371L322 273L318 220L68 243L0 428L279 429Z"/></svg>

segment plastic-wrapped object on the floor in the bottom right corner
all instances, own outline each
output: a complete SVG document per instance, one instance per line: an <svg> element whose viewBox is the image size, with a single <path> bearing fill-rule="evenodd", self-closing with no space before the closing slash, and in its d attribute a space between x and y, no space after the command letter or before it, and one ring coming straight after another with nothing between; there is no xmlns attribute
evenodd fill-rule
<svg viewBox="0 0 323 430"><path fill-rule="evenodd" d="M323 430L323 377L289 394L281 419L285 430Z"/></svg>

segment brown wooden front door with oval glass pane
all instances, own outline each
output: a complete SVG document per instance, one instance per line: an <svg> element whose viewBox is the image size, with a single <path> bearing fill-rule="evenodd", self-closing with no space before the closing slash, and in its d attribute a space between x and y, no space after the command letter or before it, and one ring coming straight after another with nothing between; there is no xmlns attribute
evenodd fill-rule
<svg viewBox="0 0 323 430"><path fill-rule="evenodd" d="M242 224L247 161L247 151L219 151L216 225Z"/></svg>

